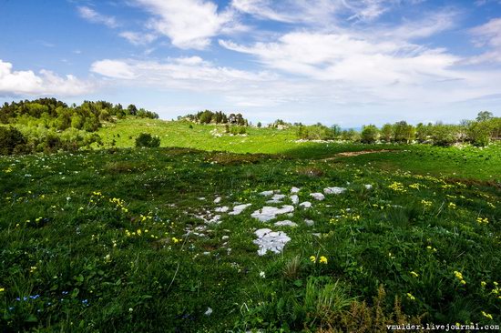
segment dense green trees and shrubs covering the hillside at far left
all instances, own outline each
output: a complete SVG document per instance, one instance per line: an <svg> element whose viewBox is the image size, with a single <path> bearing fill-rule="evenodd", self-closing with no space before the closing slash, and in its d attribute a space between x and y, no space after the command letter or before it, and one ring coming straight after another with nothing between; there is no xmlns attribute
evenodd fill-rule
<svg viewBox="0 0 501 333"><path fill-rule="evenodd" d="M157 119L158 115L144 108L105 101L68 106L56 98L5 103L0 107L0 154L75 151L92 144L102 144L95 132L104 122L126 116Z"/></svg>

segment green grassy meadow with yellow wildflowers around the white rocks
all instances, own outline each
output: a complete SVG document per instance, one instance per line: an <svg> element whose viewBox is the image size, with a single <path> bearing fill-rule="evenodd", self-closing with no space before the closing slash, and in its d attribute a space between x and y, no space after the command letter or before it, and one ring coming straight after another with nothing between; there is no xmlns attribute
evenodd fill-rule
<svg viewBox="0 0 501 333"><path fill-rule="evenodd" d="M127 119L99 130L106 148L0 157L2 330L501 323L501 145L297 143L293 130L214 129L224 132ZM161 147L133 148L141 132ZM340 155L368 150L381 151ZM292 187L312 207L295 205ZM345 190L311 196L327 187ZM267 203L269 190L284 197ZM252 217L284 206L291 216ZM275 226L283 220L296 226ZM258 254L261 228L290 237L281 253Z"/></svg>

